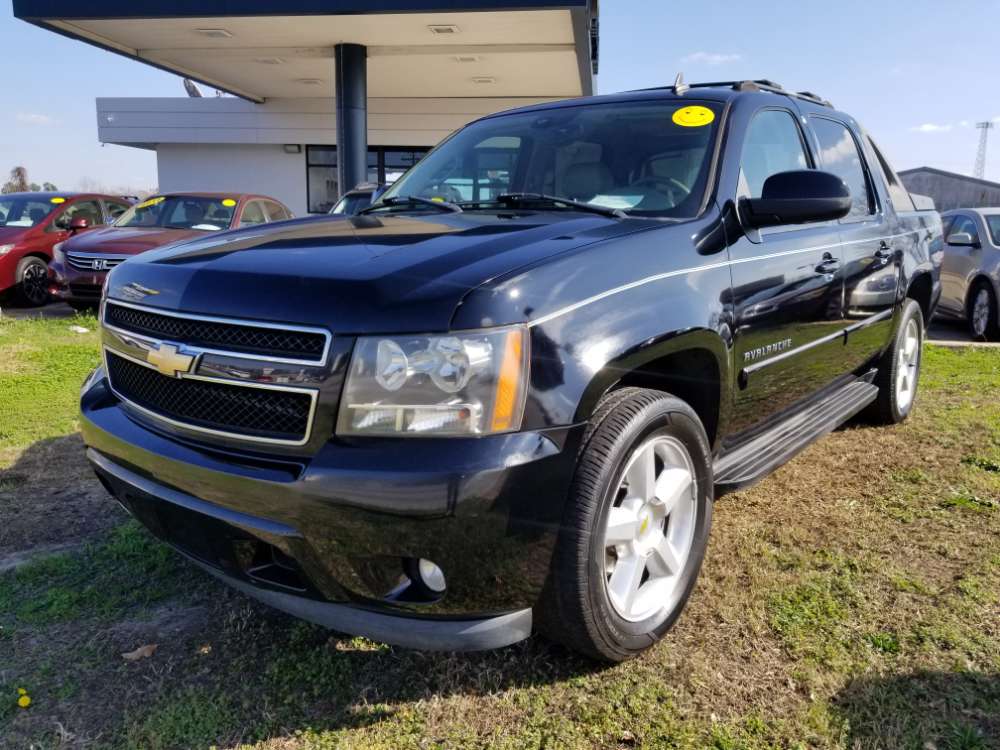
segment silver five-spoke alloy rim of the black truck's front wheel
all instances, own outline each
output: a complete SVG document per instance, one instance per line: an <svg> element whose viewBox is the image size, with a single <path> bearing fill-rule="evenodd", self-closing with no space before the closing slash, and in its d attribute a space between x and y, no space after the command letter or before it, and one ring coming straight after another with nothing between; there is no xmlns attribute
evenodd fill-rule
<svg viewBox="0 0 1000 750"><path fill-rule="evenodd" d="M669 436L647 440L625 464L604 529L606 591L620 617L639 622L673 606L696 521L697 487L687 449Z"/></svg>

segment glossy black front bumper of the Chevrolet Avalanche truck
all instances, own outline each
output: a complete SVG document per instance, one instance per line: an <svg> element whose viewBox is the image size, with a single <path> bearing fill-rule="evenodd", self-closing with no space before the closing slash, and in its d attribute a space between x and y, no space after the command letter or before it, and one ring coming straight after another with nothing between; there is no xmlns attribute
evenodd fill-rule
<svg viewBox="0 0 1000 750"><path fill-rule="evenodd" d="M227 583L337 630L449 650L529 635L583 431L331 440L288 460L162 433L103 380L81 424L105 487ZM419 558L444 571L443 595L408 577Z"/></svg>

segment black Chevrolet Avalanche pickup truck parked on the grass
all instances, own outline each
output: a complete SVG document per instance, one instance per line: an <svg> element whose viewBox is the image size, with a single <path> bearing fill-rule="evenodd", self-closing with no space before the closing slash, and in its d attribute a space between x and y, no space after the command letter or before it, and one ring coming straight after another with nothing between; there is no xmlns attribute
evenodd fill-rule
<svg viewBox="0 0 1000 750"><path fill-rule="evenodd" d="M812 95L496 114L362 216L116 268L84 440L153 533L299 617L618 661L680 615L719 493L912 412L940 241Z"/></svg>

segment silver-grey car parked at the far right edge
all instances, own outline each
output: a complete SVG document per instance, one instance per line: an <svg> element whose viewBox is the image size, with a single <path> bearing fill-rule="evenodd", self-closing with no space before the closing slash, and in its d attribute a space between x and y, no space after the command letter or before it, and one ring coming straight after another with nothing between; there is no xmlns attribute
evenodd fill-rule
<svg viewBox="0 0 1000 750"><path fill-rule="evenodd" d="M1000 208L960 208L943 219L939 312L964 320L973 338L1000 341Z"/></svg>

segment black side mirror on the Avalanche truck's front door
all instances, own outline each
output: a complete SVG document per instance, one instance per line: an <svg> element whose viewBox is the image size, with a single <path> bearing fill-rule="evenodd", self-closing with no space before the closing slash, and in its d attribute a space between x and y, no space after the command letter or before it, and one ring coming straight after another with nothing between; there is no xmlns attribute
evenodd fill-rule
<svg viewBox="0 0 1000 750"><path fill-rule="evenodd" d="M835 174L818 169L778 172L767 178L760 198L745 198L753 227L840 219L851 210L851 191Z"/></svg>

